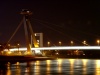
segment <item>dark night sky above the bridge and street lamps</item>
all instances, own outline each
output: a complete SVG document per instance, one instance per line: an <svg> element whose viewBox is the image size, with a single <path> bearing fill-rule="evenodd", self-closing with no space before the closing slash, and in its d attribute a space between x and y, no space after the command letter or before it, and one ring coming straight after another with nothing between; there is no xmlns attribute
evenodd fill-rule
<svg viewBox="0 0 100 75"><path fill-rule="evenodd" d="M6 43L22 20L22 9L33 12L30 21L34 32L43 32L44 43L66 45L86 40L95 45L100 39L100 1L96 0L2 0L0 2L0 43ZM12 42L24 44L23 25Z"/></svg>

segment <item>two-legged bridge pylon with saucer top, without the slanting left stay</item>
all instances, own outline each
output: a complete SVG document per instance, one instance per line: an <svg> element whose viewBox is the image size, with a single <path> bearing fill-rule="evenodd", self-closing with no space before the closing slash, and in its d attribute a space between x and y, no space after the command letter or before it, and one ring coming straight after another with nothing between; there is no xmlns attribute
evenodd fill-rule
<svg viewBox="0 0 100 75"><path fill-rule="evenodd" d="M27 54L32 54L31 53L31 44L29 42L29 36L28 36L28 28L29 28L29 31L32 35L32 39L33 39L32 41L34 43L34 46L39 47L38 44L37 44L36 38L35 38L35 34L33 32L33 29L32 29L30 20L29 20L29 16L32 15L32 12L27 10L27 9L23 9L20 14L23 15L25 39L26 39L26 46L27 46Z"/></svg>

